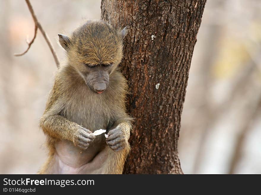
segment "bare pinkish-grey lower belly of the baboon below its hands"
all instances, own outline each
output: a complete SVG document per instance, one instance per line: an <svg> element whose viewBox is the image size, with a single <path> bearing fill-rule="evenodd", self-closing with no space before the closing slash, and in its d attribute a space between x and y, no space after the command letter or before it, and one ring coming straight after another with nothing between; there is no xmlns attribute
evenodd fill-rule
<svg viewBox="0 0 261 195"><path fill-rule="evenodd" d="M102 174L108 151L102 143L93 143L81 150L72 142L61 140L55 144L54 174Z"/></svg>

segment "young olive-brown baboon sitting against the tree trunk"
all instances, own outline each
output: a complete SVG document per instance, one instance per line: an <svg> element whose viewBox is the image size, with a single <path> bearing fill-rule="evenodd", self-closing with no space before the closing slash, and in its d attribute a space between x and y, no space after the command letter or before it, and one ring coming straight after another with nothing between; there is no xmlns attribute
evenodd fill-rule
<svg viewBox="0 0 261 195"><path fill-rule="evenodd" d="M127 81L117 68L126 33L126 27L87 21L69 37L58 34L67 61L40 119L49 150L40 174L122 174L132 122ZM98 129L109 137L91 134Z"/></svg>

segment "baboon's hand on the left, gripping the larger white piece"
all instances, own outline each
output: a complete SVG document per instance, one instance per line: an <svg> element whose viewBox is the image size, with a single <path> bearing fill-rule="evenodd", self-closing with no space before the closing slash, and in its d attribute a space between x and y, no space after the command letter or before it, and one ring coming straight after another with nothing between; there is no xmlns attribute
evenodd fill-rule
<svg viewBox="0 0 261 195"><path fill-rule="evenodd" d="M95 136L91 133L92 132L89 129L85 129L82 126L79 126L79 129L74 134L74 145L81 148L82 150L86 150L95 138Z"/></svg>

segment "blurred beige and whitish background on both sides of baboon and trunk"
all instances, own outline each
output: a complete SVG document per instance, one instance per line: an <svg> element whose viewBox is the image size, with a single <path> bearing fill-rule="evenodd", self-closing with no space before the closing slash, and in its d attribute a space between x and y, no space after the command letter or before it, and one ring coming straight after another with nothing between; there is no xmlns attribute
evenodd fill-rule
<svg viewBox="0 0 261 195"><path fill-rule="evenodd" d="M57 34L100 19L100 1L31 1L62 61ZM185 174L261 173L261 1L208 0L191 63L179 139ZM38 123L56 70L25 1L0 1L0 173L36 173Z"/></svg>

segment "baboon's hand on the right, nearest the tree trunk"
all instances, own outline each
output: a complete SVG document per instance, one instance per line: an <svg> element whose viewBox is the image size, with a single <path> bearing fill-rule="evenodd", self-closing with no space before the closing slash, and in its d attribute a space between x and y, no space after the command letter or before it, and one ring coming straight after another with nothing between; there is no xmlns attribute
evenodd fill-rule
<svg viewBox="0 0 261 195"><path fill-rule="evenodd" d="M128 144L128 136L126 136L120 127L116 127L109 131L106 143L112 150L120 151Z"/></svg>

